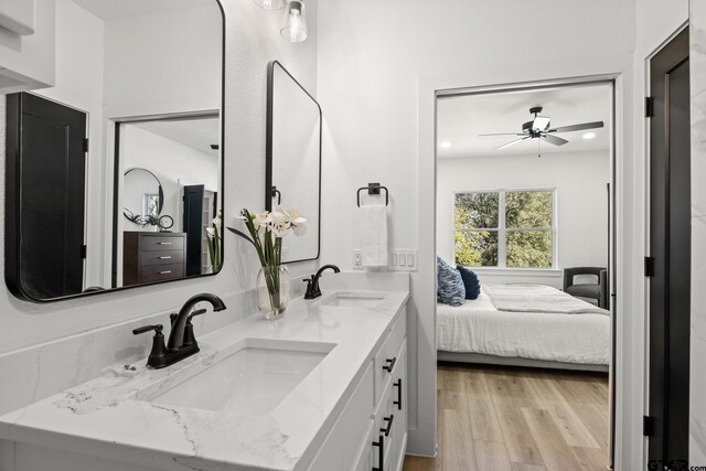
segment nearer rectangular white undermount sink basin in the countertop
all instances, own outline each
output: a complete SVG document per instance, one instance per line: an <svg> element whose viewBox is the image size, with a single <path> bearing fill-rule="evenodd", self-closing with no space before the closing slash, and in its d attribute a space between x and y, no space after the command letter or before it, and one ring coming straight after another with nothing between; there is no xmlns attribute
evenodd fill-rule
<svg viewBox="0 0 706 471"><path fill-rule="evenodd" d="M245 339L222 361L143 400L264 415L277 407L334 346L321 342Z"/></svg>

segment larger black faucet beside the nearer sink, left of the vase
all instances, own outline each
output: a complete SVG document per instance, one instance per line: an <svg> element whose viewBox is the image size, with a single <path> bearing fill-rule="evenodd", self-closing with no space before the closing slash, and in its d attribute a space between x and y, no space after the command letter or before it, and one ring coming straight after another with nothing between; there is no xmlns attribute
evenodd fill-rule
<svg viewBox="0 0 706 471"><path fill-rule="evenodd" d="M207 301L213 306L213 311L223 311L225 304L223 300L215 295L203 292L201 295L192 296L189 298L184 306L182 306L179 313L172 313L169 315L171 319L171 331L169 333L169 342L164 345L164 335L162 334L162 325L145 325L139 329L135 329L132 333L135 335L154 331L154 338L152 339L152 351L147 358L147 364L153 368L163 368L164 366L173 365L174 363L184 360L188 356L199 352L199 344L194 336L194 327L191 320L206 312L205 309L199 309L191 312L193 307L201 301Z"/></svg>

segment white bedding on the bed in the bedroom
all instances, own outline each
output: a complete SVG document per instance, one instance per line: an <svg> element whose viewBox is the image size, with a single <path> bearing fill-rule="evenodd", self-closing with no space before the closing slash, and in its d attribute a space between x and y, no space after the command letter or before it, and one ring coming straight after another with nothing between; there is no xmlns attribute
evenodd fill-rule
<svg viewBox="0 0 706 471"><path fill-rule="evenodd" d="M437 304L437 350L607 365L610 317L505 312L484 290L458 308Z"/></svg>

